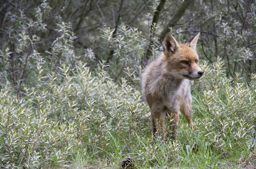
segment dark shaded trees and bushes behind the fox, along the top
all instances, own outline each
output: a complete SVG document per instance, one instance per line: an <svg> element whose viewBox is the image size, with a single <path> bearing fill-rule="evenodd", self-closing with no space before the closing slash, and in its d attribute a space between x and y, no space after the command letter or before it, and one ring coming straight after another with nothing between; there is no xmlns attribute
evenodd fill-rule
<svg viewBox="0 0 256 169"><path fill-rule="evenodd" d="M138 74L138 66L156 56L165 33L183 43L199 31L201 59L212 63L222 58L231 77L239 72L248 79L255 73L253 0L1 0L0 4L1 78L8 78L14 86L33 74L34 50L51 63L49 71L61 63L84 61L85 52L93 52L93 62L87 65L107 61L112 77L120 79L125 76L124 68ZM73 50L74 58L63 58L63 52L57 51L61 47L53 43L62 29L71 31L70 37L62 34L63 40L71 41L61 43Z"/></svg>

